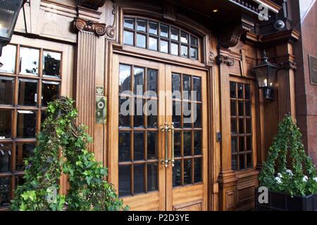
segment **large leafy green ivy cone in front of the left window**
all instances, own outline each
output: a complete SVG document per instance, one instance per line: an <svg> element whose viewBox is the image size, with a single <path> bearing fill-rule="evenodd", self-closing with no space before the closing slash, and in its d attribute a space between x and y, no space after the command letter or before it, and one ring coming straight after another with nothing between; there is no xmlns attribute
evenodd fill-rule
<svg viewBox="0 0 317 225"><path fill-rule="evenodd" d="M107 169L87 150L92 139L77 127L74 101L61 97L49 103L34 155L25 160L25 183L15 190L11 210L128 210L104 180ZM70 188L60 195L61 173Z"/></svg>

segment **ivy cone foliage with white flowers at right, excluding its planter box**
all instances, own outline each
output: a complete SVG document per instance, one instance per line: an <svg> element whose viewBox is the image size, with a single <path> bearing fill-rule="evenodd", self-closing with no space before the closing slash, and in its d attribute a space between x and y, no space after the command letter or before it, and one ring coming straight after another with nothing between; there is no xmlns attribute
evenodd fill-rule
<svg viewBox="0 0 317 225"><path fill-rule="evenodd" d="M259 180L260 186L291 196L317 193L316 167L306 155L302 134L290 115L278 125Z"/></svg>

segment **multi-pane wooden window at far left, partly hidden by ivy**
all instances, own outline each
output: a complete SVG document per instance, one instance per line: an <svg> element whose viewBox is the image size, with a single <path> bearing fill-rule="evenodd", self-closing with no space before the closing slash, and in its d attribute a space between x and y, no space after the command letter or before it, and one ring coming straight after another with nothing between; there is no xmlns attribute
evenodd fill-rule
<svg viewBox="0 0 317 225"><path fill-rule="evenodd" d="M47 103L59 95L61 53L8 45L0 62L1 208L23 184L23 161L32 156Z"/></svg>

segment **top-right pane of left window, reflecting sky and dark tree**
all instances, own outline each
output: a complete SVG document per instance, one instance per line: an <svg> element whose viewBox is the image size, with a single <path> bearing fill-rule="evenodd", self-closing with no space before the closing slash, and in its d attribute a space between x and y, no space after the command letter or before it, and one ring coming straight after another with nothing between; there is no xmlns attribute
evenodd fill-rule
<svg viewBox="0 0 317 225"><path fill-rule="evenodd" d="M60 77L61 53L43 51L43 76Z"/></svg>

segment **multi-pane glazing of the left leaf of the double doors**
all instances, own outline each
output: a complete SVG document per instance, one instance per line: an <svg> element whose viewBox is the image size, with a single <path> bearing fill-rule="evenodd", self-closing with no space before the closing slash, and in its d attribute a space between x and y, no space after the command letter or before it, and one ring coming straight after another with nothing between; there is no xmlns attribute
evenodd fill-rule
<svg viewBox="0 0 317 225"><path fill-rule="evenodd" d="M158 190L158 70L120 64L119 195ZM147 112L144 113L144 108Z"/></svg>

